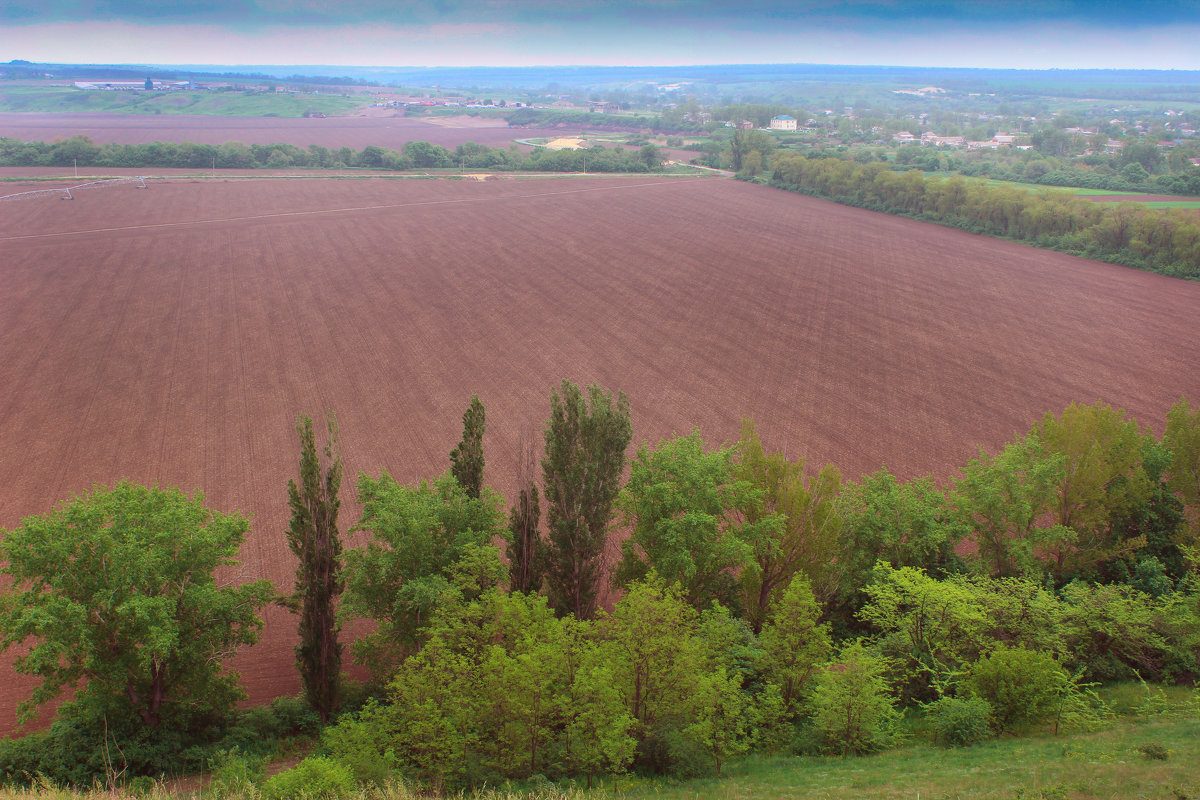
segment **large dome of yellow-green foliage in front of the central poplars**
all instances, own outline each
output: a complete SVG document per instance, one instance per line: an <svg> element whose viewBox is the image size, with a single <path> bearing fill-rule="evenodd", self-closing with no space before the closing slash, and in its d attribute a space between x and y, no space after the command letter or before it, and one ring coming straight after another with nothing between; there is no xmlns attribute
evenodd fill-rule
<svg viewBox="0 0 1200 800"><path fill-rule="evenodd" d="M491 591L438 616L380 712L402 770L431 788L619 770L632 720L588 626Z"/></svg>

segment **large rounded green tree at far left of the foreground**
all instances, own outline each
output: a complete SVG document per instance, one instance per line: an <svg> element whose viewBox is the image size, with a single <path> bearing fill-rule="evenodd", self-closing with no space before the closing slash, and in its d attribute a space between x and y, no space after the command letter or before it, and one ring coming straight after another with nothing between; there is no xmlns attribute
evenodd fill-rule
<svg viewBox="0 0 1200 800"><path fill-rule="evenodd" d="M4 531L4 648L28 646L16 669L42 680L23 717L77 685L80 704L149 728L232 710L242 692L222 661L258 639L274 589L217 584L248 523L203 503L118 483Z"/></svg>

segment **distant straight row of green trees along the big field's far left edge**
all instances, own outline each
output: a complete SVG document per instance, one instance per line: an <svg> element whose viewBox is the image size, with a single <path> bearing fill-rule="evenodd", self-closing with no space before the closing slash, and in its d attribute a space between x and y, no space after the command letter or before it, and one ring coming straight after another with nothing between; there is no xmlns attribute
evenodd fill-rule
<svg viewBox="0 0 1200 800"><path fill-rule="evenodd" d="M324 148L312 144L196 144L192 142L149 142L143 144L97 145L88 137L72 137L47 144L0 138L0 166L4 167L157 167L182 169L530 169L540 172L644 173L661 164L658 149L641 150L594 146L587 150L534 149L524 152L488 148L468 142L448 150L428 142L407 142L401 150L368 145Z"/></svg>

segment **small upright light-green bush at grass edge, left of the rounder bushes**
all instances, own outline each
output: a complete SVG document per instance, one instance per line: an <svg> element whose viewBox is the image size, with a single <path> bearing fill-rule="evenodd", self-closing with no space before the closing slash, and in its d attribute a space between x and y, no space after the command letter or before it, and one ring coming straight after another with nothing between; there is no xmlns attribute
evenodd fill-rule
<svg viewBox="0 0 1200 800"><path fill-rule="evenodd" d="M901 715L883 676L887 668L882 655L857 639L821 670L812 694L812 727L824 751L869 753L896 740Z"/></svg>

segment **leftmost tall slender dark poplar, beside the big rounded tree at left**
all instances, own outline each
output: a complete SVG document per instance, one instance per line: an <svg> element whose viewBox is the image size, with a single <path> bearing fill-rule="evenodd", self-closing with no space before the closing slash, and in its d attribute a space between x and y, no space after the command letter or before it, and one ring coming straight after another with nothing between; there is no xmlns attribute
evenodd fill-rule
<svg viewBox="0 0 1200 800"><path fill-rule="evenodd" d="M294 593L284 599L288 608L300 614L300 644L296 667L304 681L305 697L323 722L328 722L341 696L342 644L337 640L337 599L346 588L342 579L342 541L337 533L337 497L342 486L342 459L334 456L337 420L326 417L329 441L325 462L317 453L312 419L301 416L300 486L288 481L288 506L292 524L288 547L300 564L296 566Z"/></svg>

